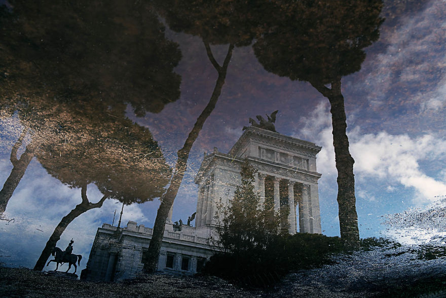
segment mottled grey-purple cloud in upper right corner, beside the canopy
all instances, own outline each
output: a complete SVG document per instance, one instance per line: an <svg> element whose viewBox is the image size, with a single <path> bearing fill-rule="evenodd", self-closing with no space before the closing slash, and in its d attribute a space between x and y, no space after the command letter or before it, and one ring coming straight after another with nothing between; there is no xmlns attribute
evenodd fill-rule
<svg viewBox="0 0 446 298"><path fill-rule="evenodd" d="M384 108L389 97L414 90L398 102L412 103L419 112L439 111L446 105L446 2L431 1L424 10L383 24L377 54L370 53L362 69L372 69L359 89L367 90L372 107ZM422 90L422 91L420 91ZM427 91L426 91L427 90Z"/></svg>

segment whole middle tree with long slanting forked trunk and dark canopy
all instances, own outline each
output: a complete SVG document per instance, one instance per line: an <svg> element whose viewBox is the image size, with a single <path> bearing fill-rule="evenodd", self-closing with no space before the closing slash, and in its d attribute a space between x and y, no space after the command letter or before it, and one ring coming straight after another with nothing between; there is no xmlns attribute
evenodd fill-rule
<svg viewBox="0 0 446 298"><path fill-rule="evenodd" d="M212 113L221 89L225 84L228 65L231 60L234 47L247 46L251 43L253 32L249 25L250 7L245 2L209 2L205 0L168 0L157 3L161 15L166 18L169 27L175 31L181 31L198 36L202 39L206 54L212 66L217 71L218 77L215 83L209 103L197 118L197 122L185 140L184 145L177 152L175 170L167 192L161 197L161 205L158 209L154 224L153 236L148 251L143 256L144 270L155 271L158 264L163 240L164 228L170 208L187 169L189 153L195 140L203 127L204 122ZM220 65L212 53L210 45L229 44L224 62Z"/></svg>

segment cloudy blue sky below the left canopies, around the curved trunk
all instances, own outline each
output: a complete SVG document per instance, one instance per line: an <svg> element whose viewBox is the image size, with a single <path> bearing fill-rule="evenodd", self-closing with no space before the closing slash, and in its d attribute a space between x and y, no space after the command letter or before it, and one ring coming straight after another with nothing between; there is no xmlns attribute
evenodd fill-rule
<svg viewBox="0 0 446 298"><path fill-rule="evenodd" d="M0 170L4 170L5 167L8 169L6 163L0 163ZM1 173L2 180L9 175L9 172ZM90 202L96 203L102 197L102 193L93 184L89 184L87 196ZM2 235L0 254L6 256L1 257L0 261L11 266L32 268L62 217L81 201L80 189L63 185L48 175L39 162L33 160L6 209L6 217L14 221L11 223L0 221ZM81 214L61 235L58 247L65 249L73 238L75 240L73 253L83 255L78 273L87 264L97 228L104 222L112 223L115 209L117 209L115 226L118 224L122 204L115 204L116 202L118 201L106 200L101 208ZM136 204L124 207L121 226L126 226L129 220L137 221L138 224L148 223L141 206ZM51 263L45 269L54 270L55 264Z"/></svg>

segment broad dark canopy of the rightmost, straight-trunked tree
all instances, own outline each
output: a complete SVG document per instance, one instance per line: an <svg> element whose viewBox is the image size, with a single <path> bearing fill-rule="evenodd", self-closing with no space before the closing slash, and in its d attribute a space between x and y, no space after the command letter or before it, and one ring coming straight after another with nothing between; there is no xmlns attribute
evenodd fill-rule
<svg viewBox="0 0 446 298"><path fill-rule="evenodd" d="M379 38L380 0L272 1L253 45L264 68L323 86L357 72Z"/></svg>

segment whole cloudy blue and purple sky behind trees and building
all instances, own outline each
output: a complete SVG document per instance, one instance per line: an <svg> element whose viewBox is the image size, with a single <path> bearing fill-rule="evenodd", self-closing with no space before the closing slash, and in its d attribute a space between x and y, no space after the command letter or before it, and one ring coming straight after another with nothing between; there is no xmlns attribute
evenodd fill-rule
<svg viewBox="0 0 446 298"><path fill-rule="evenodd" d="M386 228L381 224L383 215L399 213L410 207L425 207L432 204L436 196L446 194L443 167L446 161L445 13L444 2L386 2L382 11L386 20L381 25L379 40L366 48L360 71L342 79L347 134L350 152L355 159L356 207L361 238L381 235ZM140 103L144 101L133 101L132 105L132 98L140 98L143 92L152 89L137 87L135 89L141 93L123 96L131 89L127 84L134 80L133 76L118 75L119 71L131 70L124 63L115 65L116 77L98 79L87 85L88 88L96 86L98 91L109 90L109 80L123 82L115 93L103 97L124 98L118 107L122 117L148 128L167 164L173 168L176 151L182 147L209 101L217 73L200 37L171 30L163 18L159 22L166 25L166 40L177 44L181 52L180 59L172 62L173 72L181 78L179 98L172 92L170 100L161 101L165 104L162 110L160 102L155 105L157 108L151 105L141 108ZM147 41L147 45L150 42L153 41ZM127 51L122 45L119 48L124 53ZM228 45L211 45L211 49L221 64ZM128 51L131 55L141 52ZM119 56L120 53L115 54ZM132 61L138 63L137 59ZM0 66L2 72L7 72L3 65ZM82 69L82 63L79 69ZM91 78L101 74L86 72ZM151 77L151 74L146 75ZM172 83L178 77L173 76L168 81ZM2 86L3 94L20 87L19 84L8 85L7 90L6 85ZM165 91L169 86L163 86L161 90ZM172 86L175 89L175 85ZM139 111L145 109L144 113L135 114L135 107L139 107ZM217 147L220 152L227 153L241 136L242 127L248 125L249 117L279 110L275 123L279 133L323 147L317 155L317 169L322 174L319 180L322 230L328 236L339 235L337 171L329 109L328 100L309 83L269 73L258 62L251 46L235 47L216 107L192 148L188 170L174 202L173 220L181 218L184 221L195 212L198 188L194 178L203 152L211 152ZM4 115L0 123L0 183L4 183L11 173L11 149L23 129L18 112ZM19 155L24 152L27 142L30 142L29 137L25 138ZM91 202L97 202L103 193L91 182L87 195ZM11 221L0 221L0 261L10 266L32 268L56 225L81 203L80 197L81 188L63 184L34 158L4 213ZM67 226L58 246L65 248L73 238L73 253L82 254L87 260L97 227L104 222L112 223L115 210L116 225L121 206L118 200L108 199L101 208L80 215ZM125 224L133 220L152 227L158 206L156 199L125 206L122 221ZM81 263L81 270L85 264L86 261L84 266ZM53 270L53 265L47 269Z"/></svg>

